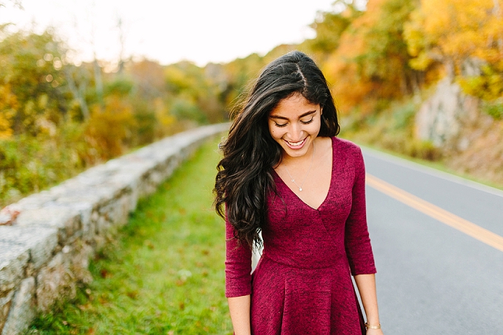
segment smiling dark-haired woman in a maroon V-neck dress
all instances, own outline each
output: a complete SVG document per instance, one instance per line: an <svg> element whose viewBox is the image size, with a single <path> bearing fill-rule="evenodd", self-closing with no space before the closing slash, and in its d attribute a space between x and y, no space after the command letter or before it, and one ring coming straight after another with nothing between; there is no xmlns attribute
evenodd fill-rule
<svg viewBox="0 0 503 335"><path fill-rule="evenodd" d="M383 334L363 157L339 129L325 77L296 51L265 67L221 144L215 204L236 335Z"/></svg>

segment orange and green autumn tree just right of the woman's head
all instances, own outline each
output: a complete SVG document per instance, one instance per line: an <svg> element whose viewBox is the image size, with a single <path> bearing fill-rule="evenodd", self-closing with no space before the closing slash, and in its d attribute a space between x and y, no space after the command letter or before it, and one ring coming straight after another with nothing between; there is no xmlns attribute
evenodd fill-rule
<svg viewBox="0 0 503 335"><path fill-rule="evenodd" d="M371 0L344 30L323 64L344 109L371 112L379 101L411 94L418 73L409 66L403 24L414 0Z"/></svg>

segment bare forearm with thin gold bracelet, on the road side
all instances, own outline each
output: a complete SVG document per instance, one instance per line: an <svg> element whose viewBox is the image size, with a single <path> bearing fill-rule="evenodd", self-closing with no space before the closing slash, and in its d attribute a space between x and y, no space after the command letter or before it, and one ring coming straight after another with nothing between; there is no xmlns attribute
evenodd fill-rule
<svg viewBox="0 0 503 335"><path fill-rule="evenodd" d="M358 274L354 276L358 292L362 299L363 309L367 315L367 324L377 326L379 322L379 308L377 308L377 292L374 274ZM381 329L367 329L367 335L382 335Z"/></svg>

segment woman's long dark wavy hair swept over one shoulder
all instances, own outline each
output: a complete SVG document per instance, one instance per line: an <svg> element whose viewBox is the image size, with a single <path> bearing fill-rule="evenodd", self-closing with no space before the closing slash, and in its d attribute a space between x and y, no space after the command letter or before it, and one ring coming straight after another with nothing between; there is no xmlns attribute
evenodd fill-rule
<svg viewBox="0 0 503 335"><path fill-rule="evenodd" d="M220 144L224 158L217 165L214 206L233 225L235 238L250 248L261 245L258 233L267 224L266 198L276 192L272 167L282 159L282 149L269 133L268 117L279 101L293 94L321 106L318 136L339 133L323 73L306 54L293 51L265 66Z"/></svg>

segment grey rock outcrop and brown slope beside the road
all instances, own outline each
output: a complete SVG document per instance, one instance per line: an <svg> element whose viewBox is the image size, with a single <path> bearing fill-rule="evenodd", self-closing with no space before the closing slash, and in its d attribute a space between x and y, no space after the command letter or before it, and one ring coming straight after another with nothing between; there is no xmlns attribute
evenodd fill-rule
<svg viewBox="0 0 503 335"><path fill-rule="evenodd" d="M444 78L418 110L415 133L442 151L449 168L503 185L503 121L482 109L479 99Z"/></svg>

